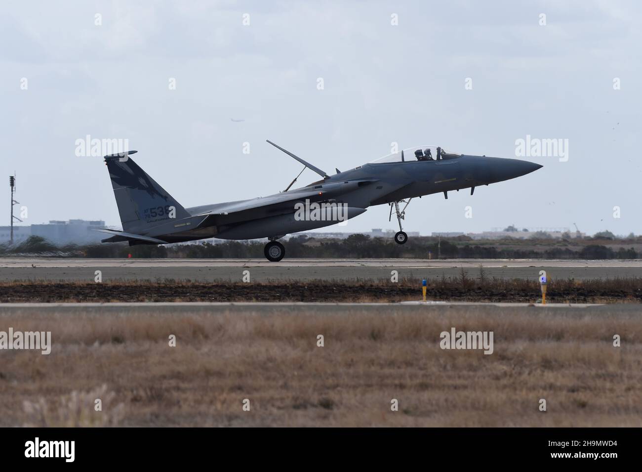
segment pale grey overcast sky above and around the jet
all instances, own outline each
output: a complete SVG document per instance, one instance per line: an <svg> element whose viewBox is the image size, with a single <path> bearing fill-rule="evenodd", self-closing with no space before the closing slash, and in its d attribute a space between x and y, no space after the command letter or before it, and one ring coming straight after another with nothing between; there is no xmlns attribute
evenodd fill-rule
<svg viewBox="0 0 642 472"><path fill-rule="evenodd" d="M577 223L642 233L639 2L25 0L0 9L0 167L17 173L25 223L120 227L102 159L76 156L86 135L128 139L135 161L186 207L284 189L301 166L265 139L334 172L392 143L516 157L516 140L530 135L568 139L568 160L525 157L544 168L473 197L413 200L404 229ZM317 179L306 170L299 183ZM395 227L388 205L329 231L375 227Z"/></svg>

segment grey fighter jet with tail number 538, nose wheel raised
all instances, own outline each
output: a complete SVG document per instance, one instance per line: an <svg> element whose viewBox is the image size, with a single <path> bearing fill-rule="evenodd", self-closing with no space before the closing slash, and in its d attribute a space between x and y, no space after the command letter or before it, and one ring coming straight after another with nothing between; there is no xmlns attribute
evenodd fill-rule
<svg viewBox="0 0 642 472"><path fill-rule="evenodd" d="M290 155L304 168L288 188L267 197L212 205L184 207L143 171L130 157L136 151L110 154L105 163L112 180L123 231L100 229L112 236L105 243L128 241L166 244L205 238L252 240L268 238L265 257L272 262L285 255L278 241L286 234L333 225L364 213L372 205L390 205L399 231L394 240L404 244L408 235L402 220L415 197L474 189L514 179L542 166L519 159L447 152L439 146L395 152L334 175L267 141ZM412 150L413 148L410 148ZM290 189L306 168L322 177L301 188ZM400 209L400 204L403 205Z"/></svg>

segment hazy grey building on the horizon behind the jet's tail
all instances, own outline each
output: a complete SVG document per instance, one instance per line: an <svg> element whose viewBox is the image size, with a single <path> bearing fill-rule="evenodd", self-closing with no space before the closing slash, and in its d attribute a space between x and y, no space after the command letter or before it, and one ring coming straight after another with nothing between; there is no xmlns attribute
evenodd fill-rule
<svg viewBox="0 0 642 472"><path fill-rule="evenodd" d="M100 243L105 238L101 232L94 231L105 227L101 220L69 220L68 222L52 220L46 224L13 227L13 243L26 241L30 236L40 236L57 245L76 243ZM0 243L10 241L10 227L0 226Z"/></svg>

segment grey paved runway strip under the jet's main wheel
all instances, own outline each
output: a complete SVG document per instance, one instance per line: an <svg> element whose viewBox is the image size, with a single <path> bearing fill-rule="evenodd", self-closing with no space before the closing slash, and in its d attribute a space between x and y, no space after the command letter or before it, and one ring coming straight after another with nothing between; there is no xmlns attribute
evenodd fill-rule
<svg viewBox="0 0 642 472"><path fill-rule="evenodd" d="M192 280L241 281L249 270L252 281L390 279L397 270L404 277L458 277L461 269L477 277L480 267L487 277L548 277L605 279L642 277L642 260L586 261L545 259L56 259L0 258L0 281L93 281L101 270L103 281Z"/></svg>

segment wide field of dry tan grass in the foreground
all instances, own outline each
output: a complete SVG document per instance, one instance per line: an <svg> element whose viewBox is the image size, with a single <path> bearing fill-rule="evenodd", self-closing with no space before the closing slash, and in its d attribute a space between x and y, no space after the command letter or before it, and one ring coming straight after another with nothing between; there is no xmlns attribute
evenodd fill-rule
<svg viewBox="0 0 642 472"><path fill-rule="evenodd" d="M0 306L9 327L53 345L0 351L0 426L642 426L630 304ZM440 349L451 327L494 353Z"/></svg>

